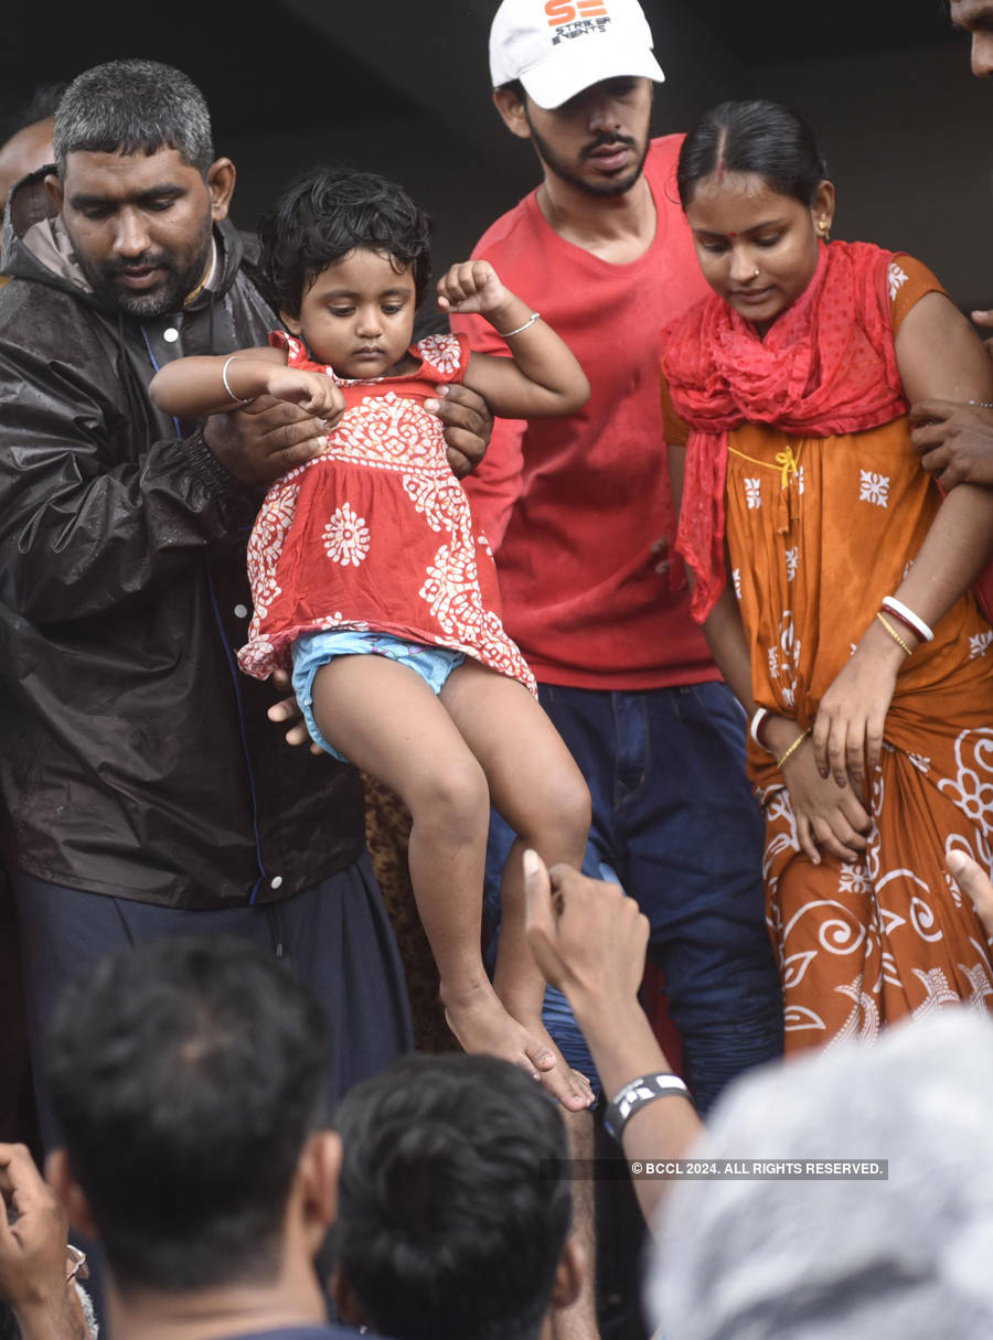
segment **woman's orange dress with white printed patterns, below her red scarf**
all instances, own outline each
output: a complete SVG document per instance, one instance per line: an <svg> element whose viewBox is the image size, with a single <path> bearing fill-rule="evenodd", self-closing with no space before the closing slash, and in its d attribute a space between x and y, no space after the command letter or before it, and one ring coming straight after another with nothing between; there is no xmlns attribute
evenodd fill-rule
<svg viewBox="0 0 993 1340"><path fill-rule="evenodd" d="M894 271L897 322L937 284L907 257ZM729 434L726 543L757 705L813 725L939 504L906 417L828 438L761 425ZM823 852L815 866L800 851L783 775L749 741L788 1051L871 1037L947 1002L993 1008L989 942L943 866L957 847L993 876L992 646L968 592L902 666L862 860Z"/></svg>

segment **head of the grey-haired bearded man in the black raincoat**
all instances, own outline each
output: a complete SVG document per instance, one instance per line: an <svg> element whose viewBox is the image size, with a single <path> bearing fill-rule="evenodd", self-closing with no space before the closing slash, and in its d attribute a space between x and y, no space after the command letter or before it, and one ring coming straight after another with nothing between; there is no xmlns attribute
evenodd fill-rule
<svg viewBox="0 0 993 1340"><path fill-rule="evenodd" d="M66 90L54 143L46 186L96 297L129 316L178 311L235 189L201 91L154 60L95 66Z"/></svg>

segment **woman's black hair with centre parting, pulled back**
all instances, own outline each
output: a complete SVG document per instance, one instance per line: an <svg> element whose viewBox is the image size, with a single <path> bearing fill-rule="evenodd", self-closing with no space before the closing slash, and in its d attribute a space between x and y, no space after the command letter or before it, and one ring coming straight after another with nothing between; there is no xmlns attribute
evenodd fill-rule
<svg viewBox="0 0 993 1340"><path fill-rule="evenodd" d="M753 173L780 196L812 205L828 170L807 122L777 102L722 102L686 135L677 184L682 208L718 169Z"/></svg>

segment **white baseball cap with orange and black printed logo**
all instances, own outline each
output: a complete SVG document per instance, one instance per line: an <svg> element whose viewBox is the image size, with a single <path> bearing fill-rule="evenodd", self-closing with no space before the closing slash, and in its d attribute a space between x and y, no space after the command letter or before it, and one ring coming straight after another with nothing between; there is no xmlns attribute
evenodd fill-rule
<svg viewBox="0 0 993 1340"><path fill-rule="evenodd" d="M560 107L602 79L665 79L638 0L504 0L489 29L493 87L520 79L539 107Z"/></svg>

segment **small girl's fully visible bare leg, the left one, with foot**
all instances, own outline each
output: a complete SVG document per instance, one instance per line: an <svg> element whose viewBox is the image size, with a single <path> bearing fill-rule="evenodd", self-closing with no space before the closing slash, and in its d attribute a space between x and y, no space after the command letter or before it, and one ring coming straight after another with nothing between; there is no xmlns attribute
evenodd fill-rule
<svg viewBox="0 0 993 1340"><path fill-rule="evenodd" d="M312 694L324 738L410 809L410 882L449 1028L466 1052L535 1075L552 1067L544 1037L508 1014L482 966L489 789L450 716L414 670L386 657L338 657L318 670Z"/></svg>

